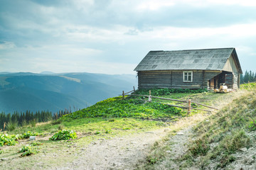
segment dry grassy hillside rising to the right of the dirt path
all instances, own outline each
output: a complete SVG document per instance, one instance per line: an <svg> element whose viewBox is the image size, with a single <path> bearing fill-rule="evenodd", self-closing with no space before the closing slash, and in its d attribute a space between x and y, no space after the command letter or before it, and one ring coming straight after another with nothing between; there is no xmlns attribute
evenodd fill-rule
<svg viewBox="0 0 256 170"><path fill-rule="evenodd" d="M166 153L174 147L169 138L152 148L148 162L139 169L247 169L255 168L256 84L243 84L230 96L228 106L213 115L204 116L193 125L188 150L181 157ZM235 99L234 99L235 98ZM219 103L227 102L219 98ZM188 125L191 125L188 123ZM182 128L187 128L188 125ZM152 162L154 160L154 162ZM250 160L250 161L248 161ZM243 167L243 168L242 168Z"/></svg>

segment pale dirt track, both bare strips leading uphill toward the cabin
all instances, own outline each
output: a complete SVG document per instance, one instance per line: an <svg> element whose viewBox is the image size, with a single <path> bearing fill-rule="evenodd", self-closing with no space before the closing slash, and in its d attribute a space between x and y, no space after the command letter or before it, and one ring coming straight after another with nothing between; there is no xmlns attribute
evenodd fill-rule
<svg viewBox="0 0 256 170"><path fill-rule="evenodd" d="M223 96L223 98L227 97ZM218 108L222 108L227 104L219 104ZM202 119L196 116L193 116L195 117L194 119ZM172 136L169 140L172 142L172 145L171 149L166 152L168 152L172 161L168 163L161 162L157 164L156 169L178 169L175 159L181 157L187 150L186 144L191 140L191 121L193 122L193 117L187 118L187 120L180 120L176 123L187 125L181 125L184 129L179 131L177 135ZM134 169L136 164L139 163L139 160L146 158L151 145L167 134L164 130L165 128L136 135L127 135L125 137L115 137L110 140L97 140L92 142L87 148L80 150L78 154L79 159L75 159L72 163L55 169Z"/></svg>

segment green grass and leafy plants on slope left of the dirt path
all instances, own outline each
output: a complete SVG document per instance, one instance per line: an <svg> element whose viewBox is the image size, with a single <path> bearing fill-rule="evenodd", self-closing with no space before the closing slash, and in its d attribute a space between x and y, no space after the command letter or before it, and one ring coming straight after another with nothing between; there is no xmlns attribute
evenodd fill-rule
<svg viewBox="0 0 256 170"><path fill-rule="evenodd" d="M161 93L162 92L163 91L161 91ZM193 93L188 93L188 91L185 92L186 93L171 94L168 92L162 97L180 98L183 100L192 98L192 101L205 103L211 106L214 106L214 100L223 97L222 94L213 94L203 91L193 91ZM157 93L158 96L161 96L159 91ZM57 121L41 123L33 127L24 126L15 128L8 133L23 134L31 131L43 134L38 137L43 145L40 146L40 152L38 152L38 154L23 157L22 159L18 158L20 156L20 154L18 154L18 149L23 145L29 144L27 140L21 140L18 145L15 146L2 147L1 151L3 151L3 153L1 153L1 157L12 160L12 166L10 166L8 162L1 162L0 169L23 169L23 167L33 169L35 166L38 166L41 169L48 169L50 166L57 167L66 162L72 162L77 158L75 153L80 152L80 149L87 147L90 142L95 140L102 138L109 139L110 137L119 137L123 135L135 135L139 132L169 127L172 124L171 121L176 121L181 118L184 118L183 123L186 124L196 122L196 120L191 121L185 119L186 110L183 111L180 108L166 106L159 102L172 103L170 101L159 101L158 99L153 99L153 102L151 103L145 103L144 101L140 101L139 98L134 97L127 98L126 100L122 100L121 97L109 98L105 101L96 103L94 106L65 115ZM174 102L174 104L182 103ZM196 107L201 108L201 106ZM191 115L195 115L195 113L200 112L193 111ZM184 126L185 125L182 125L182 127ZM49 141L49 138L55 132L63 129L75 131L78 135L78 140L70 142ZM174 129L178 131L180 128ZM171 142L168 142L167 138L164 142L171 145ZM151 163L156 163L159 162L159 160L164 159L166 155L161 153L170 147L169 145L163 147L161 145L155 145L154 148L160 148L161 150L154 152L155 154L153 157L149 157ZM159 158L158 155L160 154L161 157ZM38 159L41 160L40 163L38 163Z"/></svg>

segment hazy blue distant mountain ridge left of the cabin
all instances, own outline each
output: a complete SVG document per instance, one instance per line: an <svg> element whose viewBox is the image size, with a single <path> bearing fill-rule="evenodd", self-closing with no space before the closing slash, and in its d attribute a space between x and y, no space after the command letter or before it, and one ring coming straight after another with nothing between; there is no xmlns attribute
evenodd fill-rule
<svg viewBox="0 0 256 170"><path fill-rule="evenodd" d="M79 109L136 86L135 75L0 73L0 112Z"/></svg>

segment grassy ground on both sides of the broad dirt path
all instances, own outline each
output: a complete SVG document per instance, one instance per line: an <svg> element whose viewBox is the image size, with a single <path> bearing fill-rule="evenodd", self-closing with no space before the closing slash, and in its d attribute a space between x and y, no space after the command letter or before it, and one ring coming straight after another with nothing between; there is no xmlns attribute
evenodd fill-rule
<svg viewBox="0 0 256 170"><path fill-rule="evenodd" d="M41 169L54 168L62 166L65 162L78 159L78 152L97 140L110 140L111 137L170 128L172 130L170 135L153 146L145 164L139 167L139 169L156 169L162 162L165 164L167 162L165 168L168 169L169 152L166 151L174 145L169 141L170 136L175 135L178 130L186 128L188 125L194 125L195 136L189 144L186 154L175 159L180 169L190 167L207 169L212 160L215 160L213 163L216 168L225 168L235 160L232 154L238 152L241 147L252 146L255 142L248 135L251 130L256 129L255 124L252 123L252 120L256 120L256 101L253 97L255 94L252 94L252 88L252 85L244 86L243 91L230 94L213 94L203 91L183 91L185 93L172 91L170 94L165 89L152 91L154 96L192 98L192 101L215 107L218 105L219 108L231 103L214 115L195 110L191 115L186 115L186 111L161 104L159 100L145 103L139 98L127 98L126 100L122 100L120 97L108 98L81 111L65 115L57 121L41 123L36 127L27 125L8 132L14 135L28 131L37 132L40 134L38 141L43 145L38 147L37 154L22 158L19 157L20 153L17 151L24 145L30 144L31 142L28 140L20 140L18 144L11 147L0 147L0 157L6 159L1 162L0 169L24 169L25 166L28 169L33 169L35 165L39 165L38 160L41 160ZM142 93L146 94L148 91ZM232 101L233 98L238 99ZM165 101L164 103L173 102ZM174 104L181 103L174 102ZM196 105L193 107L200 108ZM176 122L177 120L180 121ZM198 123L199 121L201 123ZM196 123L198 125L195 125ZM65 142L48 140L55 132L63 129L77 132L78 140Z"/></svg>

